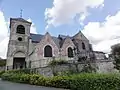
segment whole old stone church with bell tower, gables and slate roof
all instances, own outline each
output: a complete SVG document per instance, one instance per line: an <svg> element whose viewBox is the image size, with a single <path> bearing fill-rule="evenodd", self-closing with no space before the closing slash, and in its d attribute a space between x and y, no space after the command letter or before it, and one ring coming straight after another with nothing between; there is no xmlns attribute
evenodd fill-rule
<svg viewBox="0 0 120 90"><path fill-rule="evenodd" d="M93 51L81 31L74 36L51 36L30 33L31 22L10 18L7 69L45 67L53 59L80 62L104 59L103 52Z"/></svg>

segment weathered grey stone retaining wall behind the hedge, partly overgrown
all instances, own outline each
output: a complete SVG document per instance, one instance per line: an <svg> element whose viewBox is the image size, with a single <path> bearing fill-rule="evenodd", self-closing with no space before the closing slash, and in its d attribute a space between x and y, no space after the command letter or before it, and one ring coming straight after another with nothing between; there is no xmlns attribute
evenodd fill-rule
<svg viewBox="0 0 120 90"><path fill-rule="evenodd" d="M44 75L44 76L53 76L53 72L64 72L64 71L76 71L81 72L85 64L83 63L70 63L70 64L62 64L57 65L54 67L46 66L46 67L39 67L36 68L38 73ZM96 63L91 63L93 67L96 68L98 73L109 73L109 72L117 72L117 70L114 69L114 65L112 61L99 61Z"/></svg>

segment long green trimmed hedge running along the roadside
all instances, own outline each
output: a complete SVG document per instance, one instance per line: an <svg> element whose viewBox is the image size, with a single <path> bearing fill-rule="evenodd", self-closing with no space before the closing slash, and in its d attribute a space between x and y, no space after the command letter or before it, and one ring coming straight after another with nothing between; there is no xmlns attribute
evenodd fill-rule
<svg viewBox="0 0 120 90"><path fill-rule="evenodd" d="M44 77L37 74L5 72L3 80L32 85L65 88L71 90L118 90L119 74L77 74L69 76Z"/></svg>

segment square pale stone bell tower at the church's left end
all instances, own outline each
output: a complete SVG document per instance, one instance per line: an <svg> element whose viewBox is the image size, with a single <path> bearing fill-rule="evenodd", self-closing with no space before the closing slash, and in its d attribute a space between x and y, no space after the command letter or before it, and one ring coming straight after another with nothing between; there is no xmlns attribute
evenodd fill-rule
<svg viewBox="0 0 120 90"><path fill-rule="evenodd" d="M10 37L7 52L7 69L21 69L29 63L29 37L31 22L23 18L10 18Z"/></svg>

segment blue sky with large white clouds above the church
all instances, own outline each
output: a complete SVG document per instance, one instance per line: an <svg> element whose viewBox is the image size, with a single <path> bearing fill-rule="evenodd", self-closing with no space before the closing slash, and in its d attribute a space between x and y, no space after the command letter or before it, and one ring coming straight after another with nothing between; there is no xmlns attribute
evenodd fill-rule
<svg viewBox="0 0 120 90"><path fill-rule="evenodd" d="M6 57L9 19L31 21L31 33L72 36L78 31L96 51L110 52L120 42L119 0L0 0L0 57Z"/></svg>

